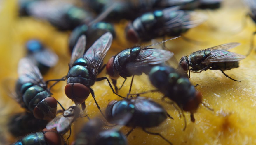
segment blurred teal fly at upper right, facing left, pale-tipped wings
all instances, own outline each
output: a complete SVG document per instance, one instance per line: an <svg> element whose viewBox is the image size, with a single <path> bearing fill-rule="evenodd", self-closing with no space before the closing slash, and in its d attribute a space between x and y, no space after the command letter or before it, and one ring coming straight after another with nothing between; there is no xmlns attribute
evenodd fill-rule
<svg viewBox="0 0 256 145"><path fill-rule="evenodd" d="M165 35L177 36L205 20L205 16L198 12L178 10L178 7L155 10L128 23L125 30L126 38L133 43L138 43Z"/></svg>

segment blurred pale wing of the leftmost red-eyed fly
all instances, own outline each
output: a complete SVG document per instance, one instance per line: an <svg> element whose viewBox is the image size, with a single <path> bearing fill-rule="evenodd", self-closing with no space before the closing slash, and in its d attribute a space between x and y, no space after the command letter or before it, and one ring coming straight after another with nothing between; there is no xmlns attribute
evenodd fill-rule
<svg viewBox="0 0 256 145"><path fill-rule="evenodd" d="M28 58L20 59L18 65L18 75L21 83L30 82L42 87L46 87L38 67Z"/></svg>

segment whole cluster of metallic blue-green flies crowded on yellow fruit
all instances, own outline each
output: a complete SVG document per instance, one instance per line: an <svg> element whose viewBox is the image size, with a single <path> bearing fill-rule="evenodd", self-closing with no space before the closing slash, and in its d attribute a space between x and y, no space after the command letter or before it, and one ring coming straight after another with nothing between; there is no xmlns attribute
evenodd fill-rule
<svg viewBox="0 0 256 145"><path fill-rule="evenodd" d="M85 101L90 94L102 116L109 123L117 126L104 129L104 122L98 118L90 120L88 117L90 121L82 127L72 144L126 145L128 144L126 137L136 127L142 128L146 133L158 135L172 144L161 134L147 131L147 128L159 126L167 118L173 118L160 104L140 96L146 92L130 97L134 95L130 94L132 82L128 95L125 97L119 95L118 91L125 81L122 85L117 85L116 80L119 77L126 80L127 77L145 73L156 88L149 92L163 93L164 97L177 104L178 108L176 108L183 117L185 117L184 111L189 112L191 121L195 122L194 113L202 104L202 94L189 81L190 72L220 70L229 79L238 81L229 77L224 71L237 68L238 61L245 58L243 55L227 51L238 46L239 43L227 43L193 52L180 59L178 68L173 68L166 63L173 57L172 52L151 47L171 40L168 39L150 46L124 49L104 65L103 59L111 48L113 38L116 37L111 22L129 19L125 34L127 40L134 43L150 41L166 35L179 36L206 20L198 12L191 11L192 9L215 9L220 7L220 2L219 0L84 0L85 6L77 7L72 3L58 1L19 0L21 16L29 15L47 20L62 31L72 30L69 36L69 48L72 52L69 71L62 79L49 81L66 80L65 94L76 105L70 106L67 110L60 105L63 113L56 116L58 101L51 97L52 93L47 87L49 81L45 82L41 73L53 67L58 61L58 56L45 48L39 40L28 41L28 56L20 60L19 78L15 93L12 93L17 102L26 109L26 113L19 114L12 120L19 124L17 126L30 127L34 131L46 128L40 132L30 133L14 144L66 144L62 135L67 131L71 133L71 124L82 117L80 113L85 110ZM96 13L99 14L97 17L95 17ZM97 77L105 67L114 88L108 77ZM102 80L106 80L113 93L122 98L110 101L105 113L97 104L91 88L96 81ZM186 119L184 120L183 130L186 128ZM42 127L38 128L37 124ZM126 137L119 131L120 126L132 128ZM10 130L15 135L25 135L31 131L27 131L26 127L20 129L24 132L15 131L13 128Z"/></svg>

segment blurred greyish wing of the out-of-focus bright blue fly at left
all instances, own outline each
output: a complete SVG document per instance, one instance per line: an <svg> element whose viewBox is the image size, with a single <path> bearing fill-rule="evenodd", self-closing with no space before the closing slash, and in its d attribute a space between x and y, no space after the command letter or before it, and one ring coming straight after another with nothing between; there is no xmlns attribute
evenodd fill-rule
<svg viewBox="0 0 256 145"><path fill-rule="evenodd" d="M48 67L55 66L59 60L58 55L50 49L43 49L40 52L36 52L34 57L38 62Z"/></svg>

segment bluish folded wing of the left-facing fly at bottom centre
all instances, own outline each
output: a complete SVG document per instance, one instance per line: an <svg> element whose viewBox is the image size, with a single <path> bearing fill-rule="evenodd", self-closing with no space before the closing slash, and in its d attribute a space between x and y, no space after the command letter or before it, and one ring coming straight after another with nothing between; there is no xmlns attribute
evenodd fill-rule
<svg viewBox="0 0 256 145"><path fill-rule="evenodd" d="M135 109L140 112L163 112L163 107L152 100L144 97L136 97L134 99Z"/></svg>

